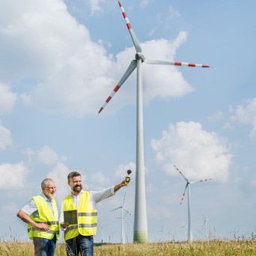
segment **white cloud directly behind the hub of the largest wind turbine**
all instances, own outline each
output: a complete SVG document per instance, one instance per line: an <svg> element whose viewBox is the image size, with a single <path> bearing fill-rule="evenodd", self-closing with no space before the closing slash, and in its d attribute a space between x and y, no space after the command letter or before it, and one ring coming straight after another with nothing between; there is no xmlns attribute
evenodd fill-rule
<svg viewBox="0 0 256 256"><path fill-rule="evenodd" d="M187 33L183 31L180 32L178 37L173 41L165 39L150 40L141 43L142 52L144 56L149 59L174 61L177 48L186 41L186 38ZM117 55L117 62L112 70L114 76L118 77L117 82L119 82L124 75L130 61L134 59L133 55L133 47L127 48ZM118 97L115 96L115 100L112 100L112 102L115 101L118 103L119 108L127 104L135 103L135 73L136 70L133 71L123 87L118 91ZM191 85L183 78L182 73L174 66L143 64L142 76L144 90L143 100L145 104L155 98L168 99L170 97L182 97L193 91ZM114 86L111 85L109 94L113 88ZM125 93L123 91L125 91Z"/></svg>

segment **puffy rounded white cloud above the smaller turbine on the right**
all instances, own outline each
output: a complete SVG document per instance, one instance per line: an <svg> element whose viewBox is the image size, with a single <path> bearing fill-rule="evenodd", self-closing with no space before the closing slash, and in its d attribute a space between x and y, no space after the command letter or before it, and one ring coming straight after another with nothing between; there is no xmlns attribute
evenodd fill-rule
<svg viewBox="0 0 256 256"><path fill-rule="evenodd" d="M215 132L204 131L199 123L170 124L162 138L151 141L151 146L167 174L177 174L175 164L189 179L228 180L231 153L226 141Z"/></svg>

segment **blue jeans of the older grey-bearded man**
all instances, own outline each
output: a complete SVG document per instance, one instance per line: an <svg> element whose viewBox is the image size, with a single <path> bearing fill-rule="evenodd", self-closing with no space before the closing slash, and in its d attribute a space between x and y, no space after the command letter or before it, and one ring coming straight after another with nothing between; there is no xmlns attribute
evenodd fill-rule
<svg viewBox="0 0 256 256"><path fill-rule="evenodd" d="M33 237L35 256L53 256L56 248L56 236L52 239Z"/></svg>

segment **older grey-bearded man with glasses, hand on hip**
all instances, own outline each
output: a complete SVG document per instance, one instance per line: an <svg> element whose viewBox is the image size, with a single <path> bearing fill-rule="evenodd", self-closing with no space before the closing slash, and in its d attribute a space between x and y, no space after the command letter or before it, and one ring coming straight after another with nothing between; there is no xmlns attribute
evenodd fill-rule
<svg viewBox="0 0 256 256"><path fill-rule="evenodd" d="M17 213L23 222L28 223L28 237L34 243L34 255L53 256L58 240L58 209L54 199L56 186L47 178L41 183L42 194L34 196Z"/></svg>

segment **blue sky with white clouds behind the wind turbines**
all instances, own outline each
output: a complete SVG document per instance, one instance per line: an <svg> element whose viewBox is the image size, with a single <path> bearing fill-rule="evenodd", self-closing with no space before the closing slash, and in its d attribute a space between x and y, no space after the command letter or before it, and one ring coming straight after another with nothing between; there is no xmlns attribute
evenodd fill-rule
<svg viewBox="0 0 256 256"><path fill-rule="evenodd" d="M210 68L142 64L148 240L256 232L256 2L123 0L147 58ZM0 3L0 240L28 240L16 217L50 177L58 206L67 174L85 190L129 186L98 204L94 241L132 243L136 72L98 114L135 58L118 1Z"/></svg>

